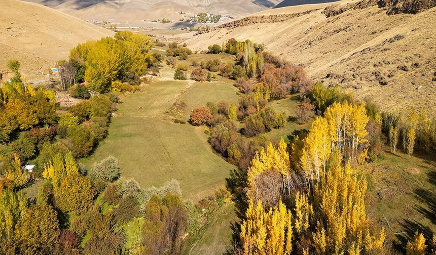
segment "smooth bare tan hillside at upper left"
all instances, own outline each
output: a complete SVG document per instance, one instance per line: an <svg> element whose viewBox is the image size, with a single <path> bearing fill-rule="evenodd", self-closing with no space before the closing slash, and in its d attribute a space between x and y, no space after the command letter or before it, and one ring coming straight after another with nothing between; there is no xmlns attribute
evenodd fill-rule
<svg viewBox="0 0 436 255"><path fill-rule="evenodd" d="M113 33L38 4L0 1L0 72L14 58L25 80L37 79L77 44Z"/></svg>

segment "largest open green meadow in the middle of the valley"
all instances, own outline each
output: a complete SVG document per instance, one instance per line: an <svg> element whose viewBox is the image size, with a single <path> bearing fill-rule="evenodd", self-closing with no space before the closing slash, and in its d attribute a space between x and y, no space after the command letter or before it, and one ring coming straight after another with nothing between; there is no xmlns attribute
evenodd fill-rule
<svg viewBox="0 0 436 255"><path fill-rule="evenodd" d="M108 136L83 163L91 169L94 162L113 155L119 160L121 177L134 178L142 187L159 186L176 179L184 198L193 200L224 186L234 166L213 153L204 128L160 118L187 84L160 81L124 96L118 105L118 116L112 118Z"/></svg>

